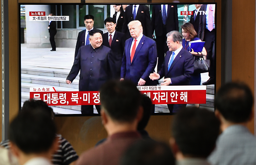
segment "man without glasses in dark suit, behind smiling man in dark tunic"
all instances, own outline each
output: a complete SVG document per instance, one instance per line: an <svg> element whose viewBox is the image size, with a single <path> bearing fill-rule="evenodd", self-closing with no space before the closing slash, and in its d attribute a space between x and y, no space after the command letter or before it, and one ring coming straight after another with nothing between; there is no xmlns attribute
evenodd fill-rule
<svg viewBox="0 0 256 165"><path fill-rule="evenodd" d="M84 25L86 29L80 31L77 36L77 45L75 46L75 58L77 56L78 50L83 45L89 45L89 31L93 30L94 17L92 15L84 16ZM103 35L103 31L100 31L101 35Z"/></svg>

